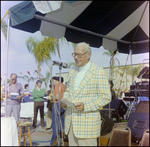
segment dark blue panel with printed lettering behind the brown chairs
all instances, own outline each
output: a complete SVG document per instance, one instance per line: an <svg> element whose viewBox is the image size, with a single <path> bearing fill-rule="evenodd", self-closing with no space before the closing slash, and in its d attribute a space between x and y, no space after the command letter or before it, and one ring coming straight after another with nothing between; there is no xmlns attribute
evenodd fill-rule
<svg viewBox="0 0 150 147"><path fill-rule="evenodd" d="M139 143L144 131L149 129L149 113L133 112L127 126L132 132L132 142Z"/></svg>

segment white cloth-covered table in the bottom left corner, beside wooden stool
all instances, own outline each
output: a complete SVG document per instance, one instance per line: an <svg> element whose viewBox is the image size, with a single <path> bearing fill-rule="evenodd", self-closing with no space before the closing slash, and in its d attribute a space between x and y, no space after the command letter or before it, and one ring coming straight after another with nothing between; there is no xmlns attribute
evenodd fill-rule
<svg viewBox="0 0 150 147"><path fill-rule="evenodd" d="M1 117L1 146L19 146L14 117Z"/></svg>

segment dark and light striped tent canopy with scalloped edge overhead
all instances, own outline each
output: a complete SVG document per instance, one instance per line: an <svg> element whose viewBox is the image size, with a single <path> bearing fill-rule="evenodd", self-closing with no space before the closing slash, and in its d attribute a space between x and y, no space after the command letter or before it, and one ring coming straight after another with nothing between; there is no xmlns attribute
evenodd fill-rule
<svg viewBox="0 0 150 147"><path fill-rule="evenodd" d="M10 26L73 43L132 54L149 52L149 1L23 1Z"/></svg>

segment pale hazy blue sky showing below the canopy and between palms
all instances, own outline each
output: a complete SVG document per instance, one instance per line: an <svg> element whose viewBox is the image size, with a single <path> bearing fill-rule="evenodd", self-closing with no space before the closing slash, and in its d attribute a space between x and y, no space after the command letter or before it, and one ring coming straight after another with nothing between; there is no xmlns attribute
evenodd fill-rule
<svg viewBox="0 0 150 147"><path fill-rule="evenodd" d="M20 3L21 1L1 1L1 18L6 14L6 11ZM4 21L7 23L8 17L6 16L4 18ZM37 39L41 39L42 35L40 31L37 31L35 33L27 33L21 30L17 30L10 27L10 38L9 38L9 49L8 49L8 78L10 77L11 73L16 73L18 76L22 75L28 75L27 71L30 72L29 77L36 77L36 73L34 73L34 70L37 70L37 64L35 62L35 59L31 53L28 52L28 49L25 45L25 41L29 38L29 36L36 37ZM2 77L2 83L6 79L6 47L7 42L4 38L4 35L1 31L1 77ZM110 66L110 57L106 55L102 55L104 52L107 52L102 46L100 48L93 48L92 49L92 56L91 61L93 61L98 66L101 66L103 68ZM73 57L71 56L71 53L73 53L73 46L71 43L62 43L60 44L60 54L61 59L59 59L58 54L52 56L52 61L61 61L61 62L74 62ZM125 65L127 57L127 64L131 64L131 57L128 56L128 54L122 54L119 53L115 56L119 62L120 65ZM132 55L132 63L138 64L143 62L149 62L149 53L143 53L143 54L137 54ZM50 66L47 64L43 64L41 66L41 74L43 76L46 75L46 72L50 70ZM61 72L68 72L69 69L62 69ZM20 74L22 73L22 75ZM59 67L53 66L52 68L52 76L56 76L56 73L59 73ZM26 84L26 81L23 79L18 78L18 82L24 85ZM35 85L35 82L30 82L29 89L32 91ZM44 83L42 84L44 87Z"/></svg>

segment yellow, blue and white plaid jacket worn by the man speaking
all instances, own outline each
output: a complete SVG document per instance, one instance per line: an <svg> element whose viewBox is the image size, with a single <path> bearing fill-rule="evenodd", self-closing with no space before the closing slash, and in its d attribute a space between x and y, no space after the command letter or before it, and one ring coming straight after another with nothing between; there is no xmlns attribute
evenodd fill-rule
<svg viewBox="0 0 150 147"><path fill-rule="evenodd" d="M65 134L68 134L72 121L73 131L77 138L97 138L101 128L99 109L111 100L108 79L104 70L93 62L77 90L74 88L76 75L76 70L69 71L63 99L74 103L84 102L84 111L65 108Z"/></svg>

